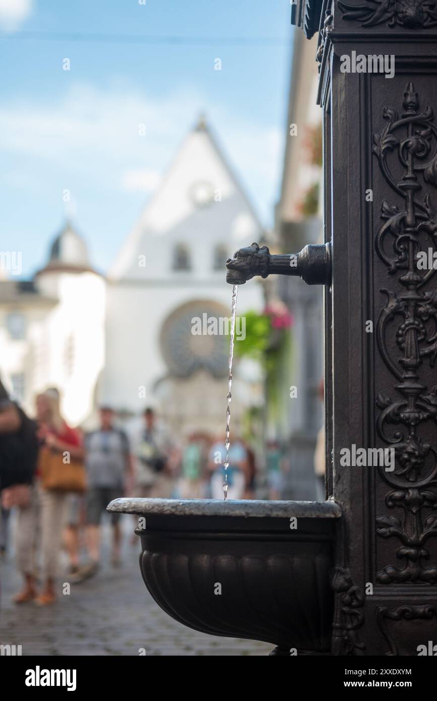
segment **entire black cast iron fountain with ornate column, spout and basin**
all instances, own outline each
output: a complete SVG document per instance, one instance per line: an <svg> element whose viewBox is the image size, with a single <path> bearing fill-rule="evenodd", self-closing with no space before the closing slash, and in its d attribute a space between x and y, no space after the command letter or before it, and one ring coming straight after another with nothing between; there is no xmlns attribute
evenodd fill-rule
<svg viewBox="0 0 437 701"><path fill-rule="evenodd" d="M144 581L186 625L276 654L417 655L437 641L436 8L296 0L292 22L318 36L325 244L295 256L253 244L228 261L227 280L324 285L327 501L109 510L145 517ZM342 56L387 47L390 80L342 71ZM343 465L352 445L394 449L394 469Z"/></svg>

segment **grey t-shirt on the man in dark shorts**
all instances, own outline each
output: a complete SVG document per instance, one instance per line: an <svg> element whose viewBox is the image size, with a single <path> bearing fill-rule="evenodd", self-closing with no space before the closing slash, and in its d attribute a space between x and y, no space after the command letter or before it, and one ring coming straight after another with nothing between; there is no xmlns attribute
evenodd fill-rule
<svg viewBox="0 0 437 701"><path fill-rule="evenodd" d="M89 486L122 487L129 454L123 430L97 430L85 438L85 465Z"/></svg>

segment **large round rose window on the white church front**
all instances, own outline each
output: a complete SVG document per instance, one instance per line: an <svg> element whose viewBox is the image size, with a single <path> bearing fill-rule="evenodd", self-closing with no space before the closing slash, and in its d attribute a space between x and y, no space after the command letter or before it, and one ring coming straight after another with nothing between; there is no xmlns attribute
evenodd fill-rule
<svg viewBox="0 0 437 701"><path fill-rule="evenodd" d="M218 320L224 317L224 310L212 301L184 304L168 317L161 331L161 348L171 374L188 377L205 370L217 378L226 376L227 335L208 334L208 329L220 329Z"/></svg>

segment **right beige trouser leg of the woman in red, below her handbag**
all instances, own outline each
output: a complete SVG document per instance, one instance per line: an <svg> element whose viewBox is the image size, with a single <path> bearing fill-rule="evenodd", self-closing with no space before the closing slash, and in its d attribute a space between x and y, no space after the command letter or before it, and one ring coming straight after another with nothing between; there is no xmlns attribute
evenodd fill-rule
<svg viewBox="0 0 437 701"><path fill-rule="evenodd" d="M42 578L55 578L62 544L62 531L67 524L69 493L41 489L41 556Z"/></svg>

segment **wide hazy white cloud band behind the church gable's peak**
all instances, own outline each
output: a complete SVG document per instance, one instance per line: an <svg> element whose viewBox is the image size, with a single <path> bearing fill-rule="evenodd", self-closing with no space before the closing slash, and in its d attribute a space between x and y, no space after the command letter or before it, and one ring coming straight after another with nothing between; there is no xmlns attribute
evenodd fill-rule
<svg viewBox="0 0 437 701"><path fill-rule="evenodd" d="M90 191L149 193L205 104L192 88L156 97L120 83L106 89L78 83L44 104L27 96L0 102L0 151L13 161L25 158L29 172L57 172L62 188L79 175ZM207 121L255 208L270 218L281 170L281 130L210 103ZM143 124L145 136L139 133ZM1 179L13 185L14 177L4 170Z"/></svg>

